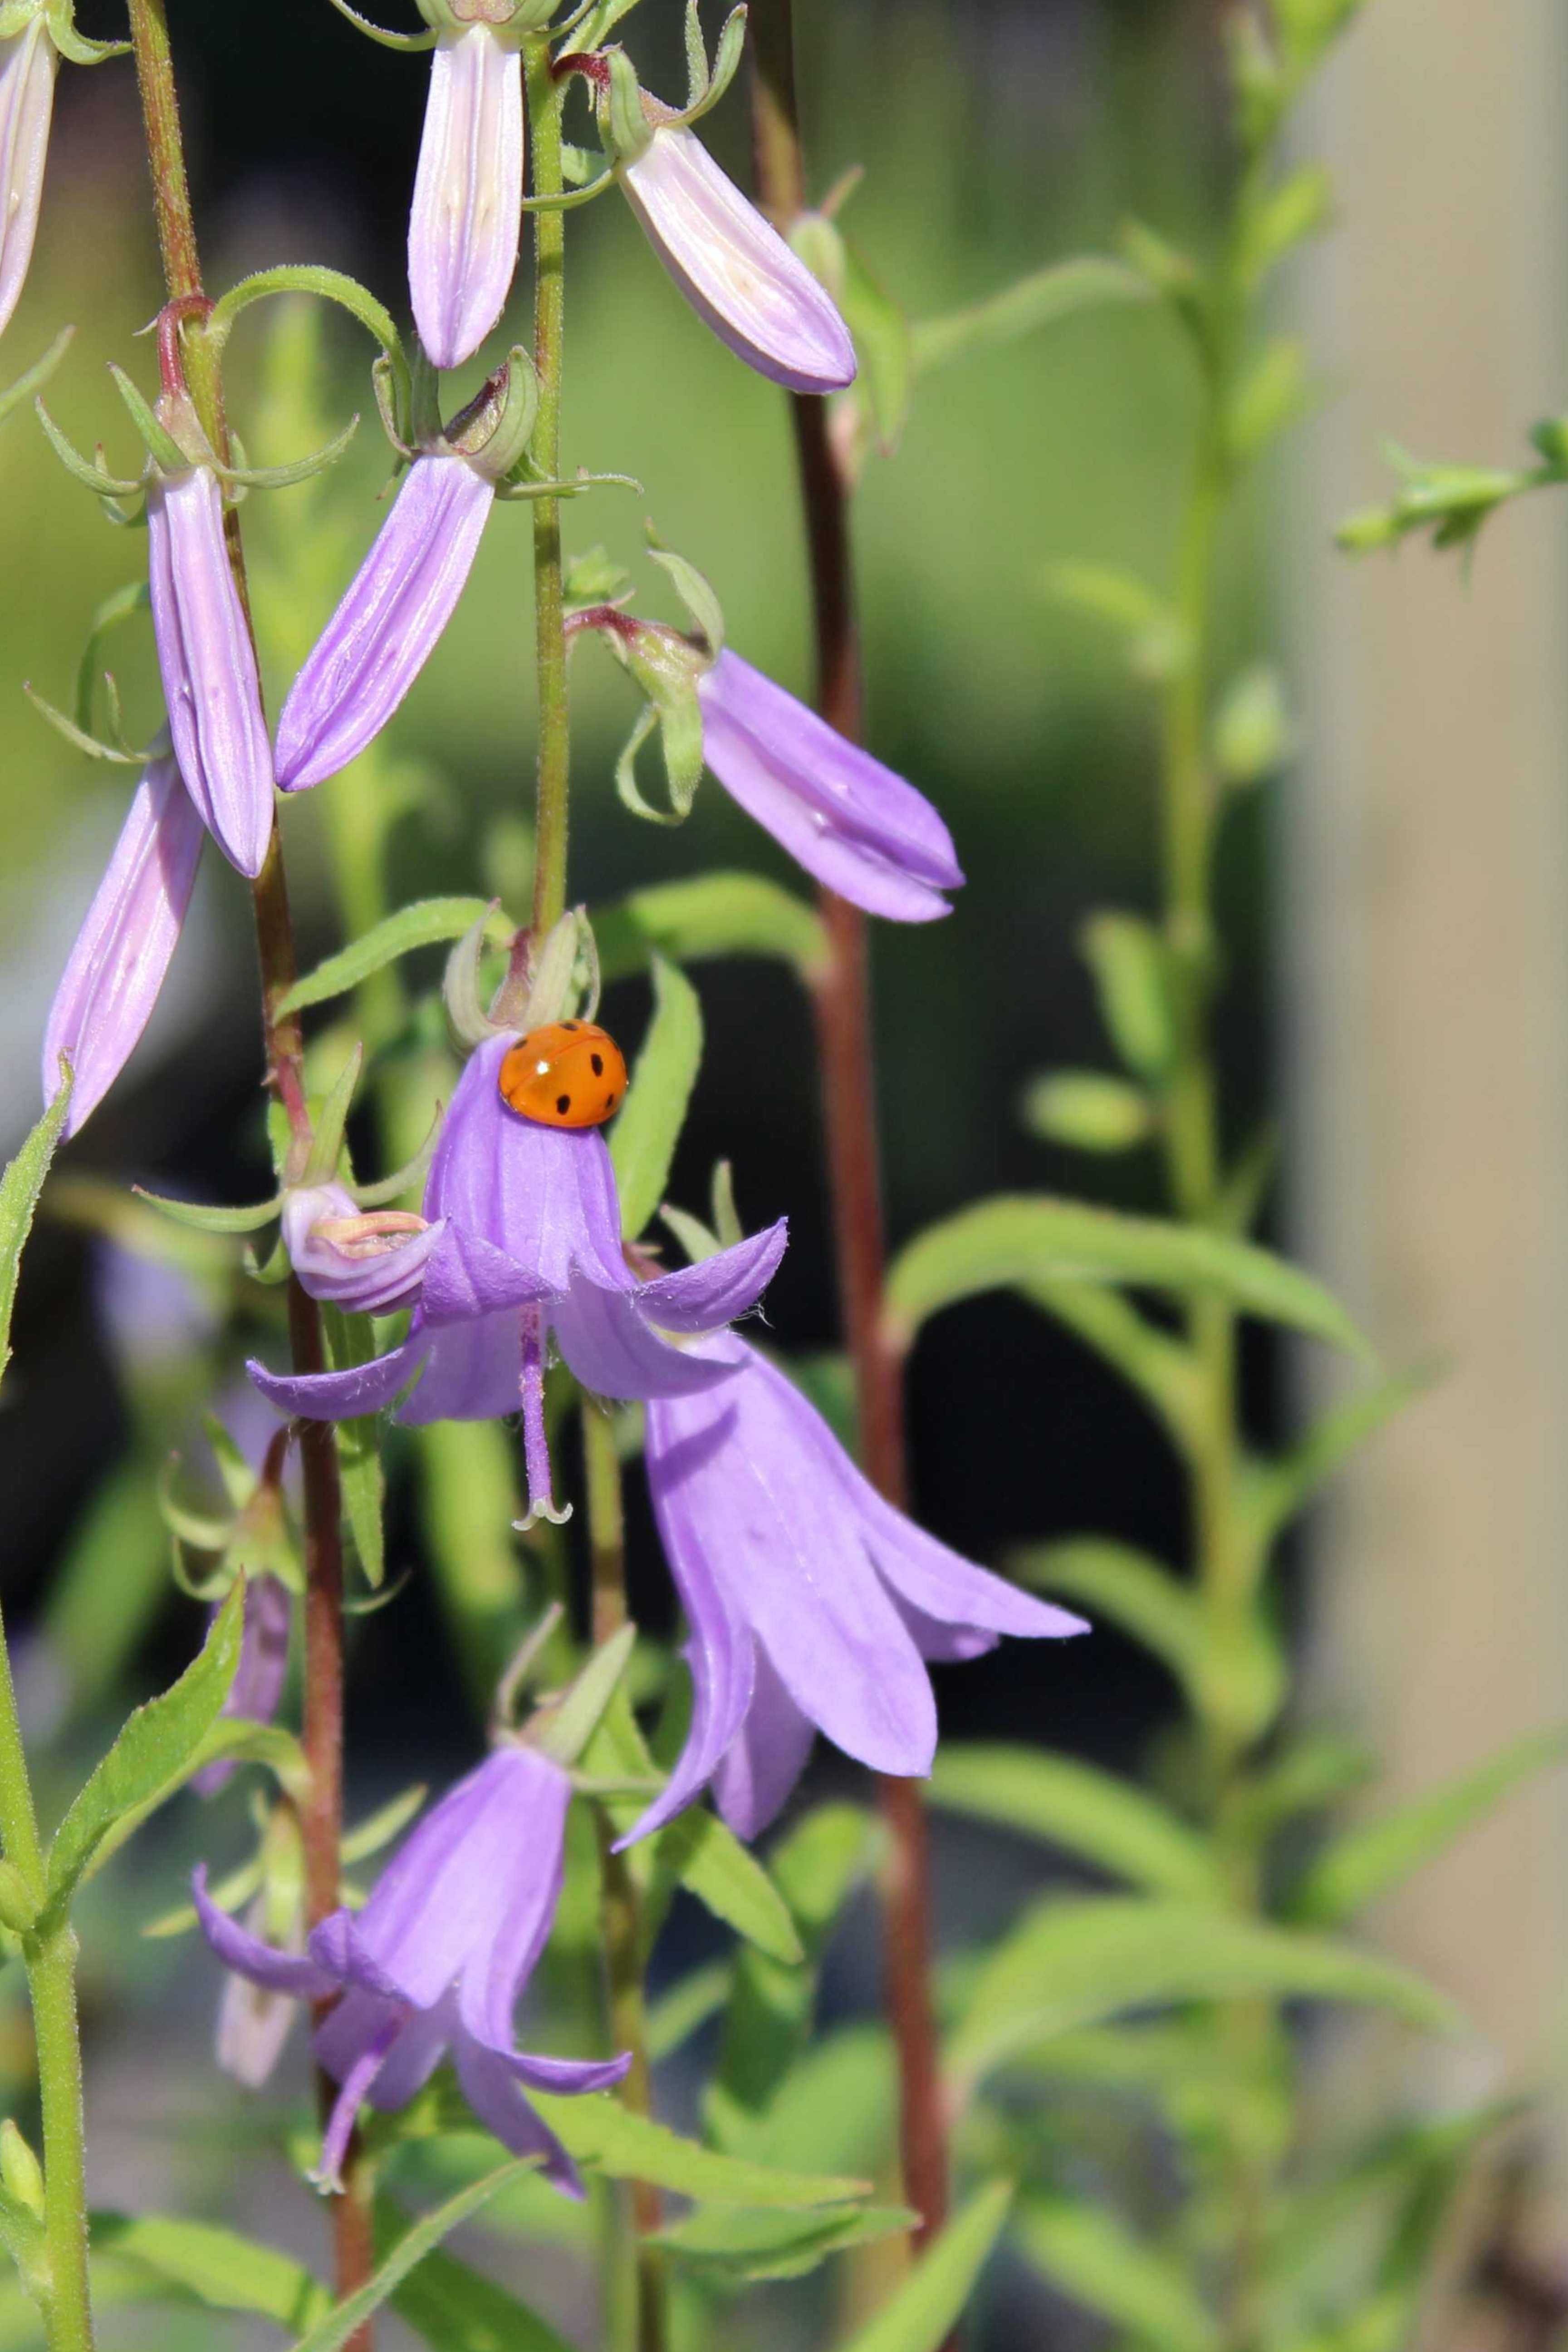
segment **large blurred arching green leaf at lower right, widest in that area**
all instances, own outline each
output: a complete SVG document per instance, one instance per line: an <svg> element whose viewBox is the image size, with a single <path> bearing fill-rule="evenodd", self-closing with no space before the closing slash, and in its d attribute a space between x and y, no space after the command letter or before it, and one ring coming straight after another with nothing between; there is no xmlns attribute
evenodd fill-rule
<svg viewBox="0 0 1568 2352"><path fill-rule="evenodd" d="M1128 2009L1171 2002L1356 2002L1422 2032L1453 2004L1408 1969L1324 1936L1135 1896L1046 1900L983 1964L947 2051L959 2098L1013 2051Z"/></svg>

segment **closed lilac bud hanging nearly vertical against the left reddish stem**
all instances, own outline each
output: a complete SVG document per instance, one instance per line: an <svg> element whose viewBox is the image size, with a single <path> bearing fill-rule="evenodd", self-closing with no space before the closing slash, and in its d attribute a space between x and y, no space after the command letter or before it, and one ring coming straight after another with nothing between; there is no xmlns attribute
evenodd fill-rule
<svg viewBox="0 0 1568 2352"><path fill-rule="evenodd" d="M273 840L273 746L212 466L153 475L148 586L179 771L228 863L254 880Z"/></svg>

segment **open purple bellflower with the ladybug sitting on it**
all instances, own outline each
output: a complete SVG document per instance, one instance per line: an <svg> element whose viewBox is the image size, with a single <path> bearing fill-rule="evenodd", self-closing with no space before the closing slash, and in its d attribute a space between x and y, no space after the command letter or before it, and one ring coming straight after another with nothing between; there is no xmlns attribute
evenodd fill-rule
<svg viewBox="0 0 1568 2352"><path fill-rule="evenodd" d="M456 1084L425 1181L442 1225L400 1348L350 1371L249 1374L306 1421L381 1411L423 1374L397 1418L498 1421L522 1409L529 1522L555 1517L545 1444L545 1341L599 1397L679 1397L729 1364L665 1334L715 1331L745 1315L785 1251L785 1223L701 1265L639 1282L621 1247L621 1207L597 1127L543 1127L501 1098L510 1037L487 1040ZM524 1524L529 1524L524 1522Z"/></svg>

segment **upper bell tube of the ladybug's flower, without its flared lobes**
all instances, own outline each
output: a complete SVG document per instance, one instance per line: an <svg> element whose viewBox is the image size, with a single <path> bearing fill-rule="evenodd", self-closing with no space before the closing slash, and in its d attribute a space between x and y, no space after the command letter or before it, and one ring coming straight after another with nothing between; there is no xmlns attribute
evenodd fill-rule
<svg viewBox="0 0 1568 2352"><path fill-rule="evenodd" d="M597 1127L543 1127L501 1101L501 1063L512 1037L470 1054L442 1120L425 1183L425 1216L501 1249L564 1291L574 1272L607 1289L635 1289L621 1249L616 1171Z"/></svg>

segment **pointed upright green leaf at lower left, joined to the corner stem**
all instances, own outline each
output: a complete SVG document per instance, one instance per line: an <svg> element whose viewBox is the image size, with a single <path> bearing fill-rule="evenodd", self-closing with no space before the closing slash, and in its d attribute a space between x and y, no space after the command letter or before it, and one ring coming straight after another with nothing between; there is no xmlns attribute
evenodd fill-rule
<svg viewBox="0 0 1568 2352"><path fill-rule="evenodd" d="M216 1724L240 1665L242 1628L240 1581L212 1621L200 1656L162 1698L136 1708L54 1832L52 1907L71 1900L82 1872L122 1823L146 1818L197 1769L202 1740Z"/></svg>

